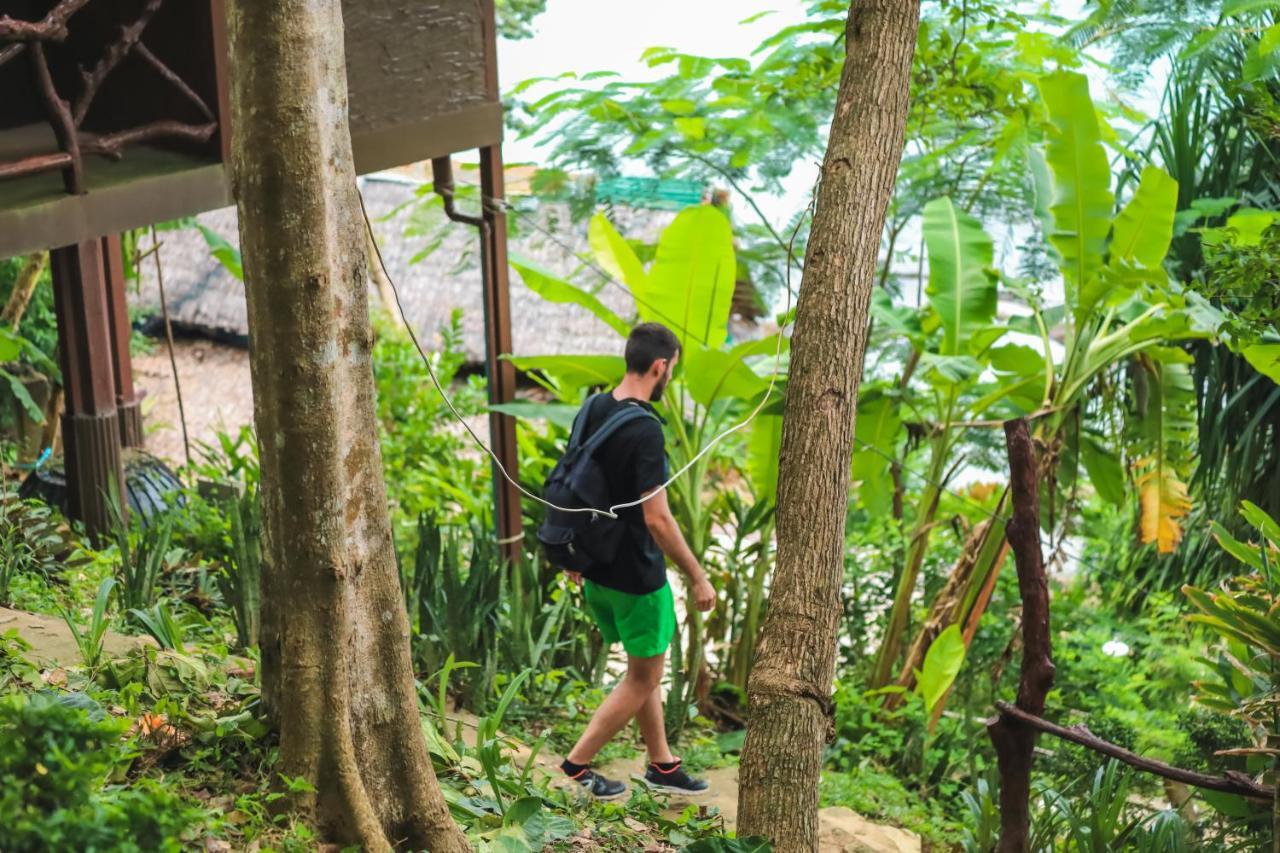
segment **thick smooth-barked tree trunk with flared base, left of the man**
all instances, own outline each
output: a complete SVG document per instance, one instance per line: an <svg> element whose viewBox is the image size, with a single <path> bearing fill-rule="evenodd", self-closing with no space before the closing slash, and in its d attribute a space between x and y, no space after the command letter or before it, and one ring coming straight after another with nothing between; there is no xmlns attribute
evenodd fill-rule
<svg viewBox="0 0 1280 853"><path fill-rule="evenodd" d="M233 174L262 460L262 685L323 834L467 850L422 738L370 365L339 0L233 0Z"/></svg>

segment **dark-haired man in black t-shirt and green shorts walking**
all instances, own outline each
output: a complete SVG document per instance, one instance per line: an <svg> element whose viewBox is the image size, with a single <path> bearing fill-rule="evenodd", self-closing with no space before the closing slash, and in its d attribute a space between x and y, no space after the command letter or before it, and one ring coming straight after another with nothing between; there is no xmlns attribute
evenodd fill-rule
<svg viewBox="0 0 1280 853"><path fill-rule="evenodd" d="M678 357L680 341L671 329L657 323L637 325L627 338L626 377L612 393L591 397L579 414L585 419L584 438L622 406L641 406L652 414L625 423L595 448L611 505L653 494L639 507L618 510L623 532L617 557L608 565L593 566L582 583L588 610L604 642L621 642L627 653L626 675L600 703L561 765L566 775L599 799L617 799L627 790L622 783L591 770L590 763L631 720L640 726L649 753L644 777L650 788L684 794L707 790L707 783L689 776L671 754L662 712L663 662L676 630L663 555L685 574L694 607L708 611L716 606L716 590L676 525L662 488L667 453L662 419L652 403L662 400Z"/></svg>

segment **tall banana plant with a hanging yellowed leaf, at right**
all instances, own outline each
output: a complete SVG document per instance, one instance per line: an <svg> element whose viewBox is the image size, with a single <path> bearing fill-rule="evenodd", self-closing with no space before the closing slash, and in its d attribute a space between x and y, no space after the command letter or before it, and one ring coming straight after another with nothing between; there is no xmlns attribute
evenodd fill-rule
<svg viewBox="0 0 1280 853"><path fill-rule="evenodd" d="M965 420L1033 419L1034 437L1044 448L1042 474L1047 483L1056 482L1061 460L1079 448L1080 461L1100 493L1119 502L1126 500L1129 479L1137 485L1143 542L1170 549L1180 538L1179 519L1189 498L1178 457L1185 456L1184 424L1194 415L1194 397L1181 393L1185 356L1172 345L1211 338L1222 316L1204 300L1184 293L1164 269L1172 238L1178 183L1148 167L1117 211L1103 143L1115 133L1100 120L1087 79L1056 72L1042 77L1038 85L1044 120L1042 145L1030 158L1036 210L1062 278L1065 301L1044 305L1037 289L1001 279L1030 313L1011 318L1002 327L984 325L983 321L991 320L986 319L987 304L978 296L968 302L973 314L966 316L966 302L957 301L955 295L980 293L978 270L991 264L987 251L991 241L980 227L966 223L963 214L951 214L950 204L934 202L933 215L927 215L924 223L929 306L920 324L924 329L941 329L942 334L941 342L937 334L927 338L934 348L920 352L919 362L946 382L934 379L927 391L942 402L933 409L937 420L928 430L929 483L915 515L872 686L891 683L915 594L918 561L927 548L946 473L955 464L951 453L956 429L966 425ZM1039 345L1000 343L1007 332L1029 334ZM1062 342L1061 357L1055 357L1051 333ZM968 352L961 350L964 339ZM1092 392L1100 380L1133 364L1139 365L1152 391L1146 412L1148 423L1139 430L1137 447L1107 447L1088 432L1088 419L1098 411L1091 405ZM1080 432L1078 424L1084 424ZM1134 451L1133 470L1128 473L1116 462L1124 450ZM1006 514L1001 498L993 515L1002 523ZM988 599L980 593L989 589L993 573L1004 561L1004 549L983 547L986 543L977 538L973 542L980 553L961 557L977 564L961 596L964 606L955 615L966 626L977 624ZM968 630L965 634L972 635ZM919 665L908 661L899 683L910 685L913 670Z"/></svg>

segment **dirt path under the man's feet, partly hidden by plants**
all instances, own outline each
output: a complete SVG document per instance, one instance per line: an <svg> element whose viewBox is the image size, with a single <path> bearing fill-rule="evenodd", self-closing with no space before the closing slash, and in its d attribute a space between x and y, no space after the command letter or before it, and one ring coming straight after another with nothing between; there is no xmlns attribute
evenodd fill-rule
<svg viewBox="0 0 1280 853"><path fill-rule="evenodd" d="M476 717L458 712L452 720L462 722L463 742L467 745L475 745ZM517 762L527 761L529 748L520 744L515 754ZM559 756L543 749L539 752L535 765L547 772L553 785L572 786L572 783L564 780L559 770L561 761L563 760ZM636 785L635 777L644 774L644 762L641 760L612 761L600 767L600 772L611 779L621 779L628 785ZM710 790L700 797L672 795L667 802L667 815L675 817L690 804L716 807L724 816L724 826L735 829L737 826L737 767L716 767L701 776L710 783ZM818 848L823 853L920 853L922 849L920 839L915 834L896 826L873 824L844 806L818 811Z"/></svg>

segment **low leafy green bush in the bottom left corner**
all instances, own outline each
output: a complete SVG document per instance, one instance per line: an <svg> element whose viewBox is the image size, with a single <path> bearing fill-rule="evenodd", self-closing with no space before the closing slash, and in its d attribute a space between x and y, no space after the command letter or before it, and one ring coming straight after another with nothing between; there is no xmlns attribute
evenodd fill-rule
<svg viewBox="0 0 1280 853"><path fill-rule="evenodd" d="M180 850L202 815L150 779L104 785L129 761L125 725L35 694L0 699L0 825L6 850Z"/></svg>

